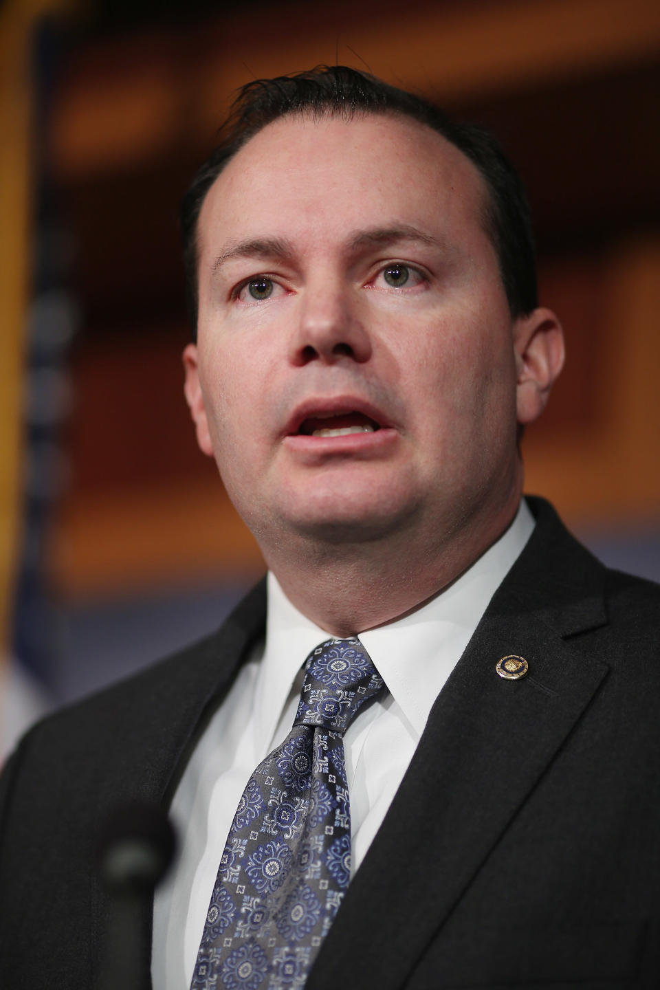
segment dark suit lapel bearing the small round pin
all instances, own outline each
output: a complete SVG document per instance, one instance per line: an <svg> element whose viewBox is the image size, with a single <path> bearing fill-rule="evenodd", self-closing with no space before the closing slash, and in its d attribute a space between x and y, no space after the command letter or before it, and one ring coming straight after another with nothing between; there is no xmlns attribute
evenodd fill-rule
<svg viewBox="0 0 660 990"><path fill-rule="evenodd" d="M549 507L540 512L534 537L436 699L310 990L405 983L607 675L607 664L567 642L607 621L603 568ZM520 680L496 672L512 653L529 664Z"/></svg>

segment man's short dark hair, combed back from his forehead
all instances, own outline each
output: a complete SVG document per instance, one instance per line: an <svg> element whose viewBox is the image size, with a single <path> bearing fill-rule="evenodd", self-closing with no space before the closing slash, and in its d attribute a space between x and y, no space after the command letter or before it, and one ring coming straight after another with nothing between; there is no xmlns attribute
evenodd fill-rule
<svg viewBox="0 0 660 990"><path fill-rule="evenodd" d="M488 190L484 227L497 251L512 316L536 302L536 261L529 206L519 175L488 131L452 121L427 100L345 65L319 65L297 75L256 79L239 91L220 129L220 144L195 175L181 206L183 257L193 326L197 324L197 220L209 189L250 138L291 114L400 114L440 134L476 165Z"/></svg>

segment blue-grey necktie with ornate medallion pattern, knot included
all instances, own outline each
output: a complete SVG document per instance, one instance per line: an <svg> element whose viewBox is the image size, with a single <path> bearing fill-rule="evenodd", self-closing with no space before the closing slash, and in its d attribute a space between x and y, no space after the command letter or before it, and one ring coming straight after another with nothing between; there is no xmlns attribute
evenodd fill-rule
<svg viewBox="0 0 660 990"><path fill-rule="evenodd" d="M310 653L293 729L250 777L191 990L299 990L350 878L343 733L383 687L357 639Z"/></svg>

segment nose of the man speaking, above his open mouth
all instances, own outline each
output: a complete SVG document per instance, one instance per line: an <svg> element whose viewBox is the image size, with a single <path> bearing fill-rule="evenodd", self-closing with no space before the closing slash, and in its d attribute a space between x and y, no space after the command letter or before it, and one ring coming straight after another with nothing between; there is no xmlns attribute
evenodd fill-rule
<svg viewBox="0 0 660 990"><path fill-rule="evenodd" d="M292 335L291 360L329 364L343 357L362 363L371 356L369 333L360 319L353 290L341 286L309 286L300 302L298 325Z"/></svg>

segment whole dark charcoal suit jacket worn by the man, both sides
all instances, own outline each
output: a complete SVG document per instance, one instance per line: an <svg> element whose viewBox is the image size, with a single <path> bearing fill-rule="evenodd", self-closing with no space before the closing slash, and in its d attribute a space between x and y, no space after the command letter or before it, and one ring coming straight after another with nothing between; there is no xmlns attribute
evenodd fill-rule
<svg viewBox="0 0 660 990"><path fill-rule="evenodd" d="M309 990L660 986L660 589L533 508ZM97 831L120 797L167 807L264 605L260 586L216 635L21 744L3 778L2 988L95 985ZM496 674L508 653L525 678Z"/></svg>

